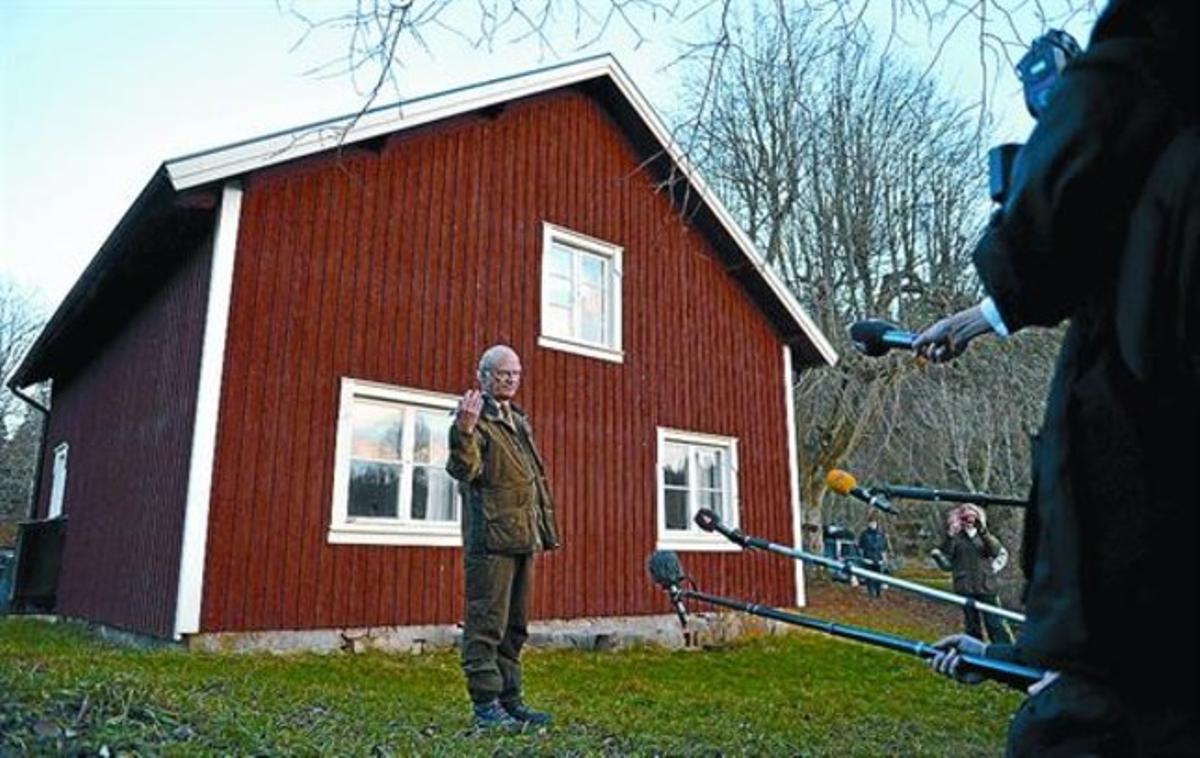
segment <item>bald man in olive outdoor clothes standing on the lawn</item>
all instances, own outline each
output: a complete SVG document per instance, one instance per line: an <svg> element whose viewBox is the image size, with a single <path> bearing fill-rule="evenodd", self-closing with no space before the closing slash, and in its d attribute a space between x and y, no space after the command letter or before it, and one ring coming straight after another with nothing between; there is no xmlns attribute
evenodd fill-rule
<svg viewBox="0 0 1200 758"><path fill-rule="evenodd" d="M512 404L521 359L493 345L479 359L450 427L446 471L463 493L467 619L462 670L479 728L541 726L550 715L521 699L534 553L559 547L554 505L533 429Z"/></svg>

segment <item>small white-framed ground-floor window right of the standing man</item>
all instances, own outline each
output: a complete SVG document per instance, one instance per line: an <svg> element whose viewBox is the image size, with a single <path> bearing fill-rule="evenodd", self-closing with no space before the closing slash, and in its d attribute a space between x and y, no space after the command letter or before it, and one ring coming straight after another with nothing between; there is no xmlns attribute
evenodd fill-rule
<svg viewBox="0 0 1200 758"><path fill-rule="evenodd" d="M700 509L709 509L737 528L738 441L659 427L658 451L658 549L737 551L694 519Z"/></svg>

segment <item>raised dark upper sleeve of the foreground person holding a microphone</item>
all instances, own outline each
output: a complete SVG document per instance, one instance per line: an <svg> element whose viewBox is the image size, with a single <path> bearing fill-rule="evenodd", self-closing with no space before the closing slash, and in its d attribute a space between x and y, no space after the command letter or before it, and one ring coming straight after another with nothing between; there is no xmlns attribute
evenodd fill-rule
<svg viewBox="0 0 1200 758"><path fill-rule="evenodd" d="M1052 326L1111 281L1128 216L1172 128L1139 65L1152 54L1132 40L1093 42L1018 155L1008 201L974 251L1010 331Z"/></svg>

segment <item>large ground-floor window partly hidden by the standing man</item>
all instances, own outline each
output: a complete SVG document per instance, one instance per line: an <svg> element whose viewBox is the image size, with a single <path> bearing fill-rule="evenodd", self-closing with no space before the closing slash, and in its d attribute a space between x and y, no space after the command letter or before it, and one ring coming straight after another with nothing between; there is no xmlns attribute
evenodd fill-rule
<svg viewBox="0 0 1200 758"><path fill-rule="evenodd" d="M330 542L462 543L445 471L457 398L342 380Z"/></svg>

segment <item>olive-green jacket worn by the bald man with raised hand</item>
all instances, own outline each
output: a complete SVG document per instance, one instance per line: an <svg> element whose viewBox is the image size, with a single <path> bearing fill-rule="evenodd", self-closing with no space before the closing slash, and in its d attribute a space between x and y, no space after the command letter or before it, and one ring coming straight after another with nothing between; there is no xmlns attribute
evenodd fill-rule
<svg viewBox="0 0 1200 758"><path fill-rule="evenodd" d="M514 426L484 397L470 434L450 426L446 471L463 495L462 546L468 553L533 553L559 546L546 467L524 411L514 404Z"/></svg>

